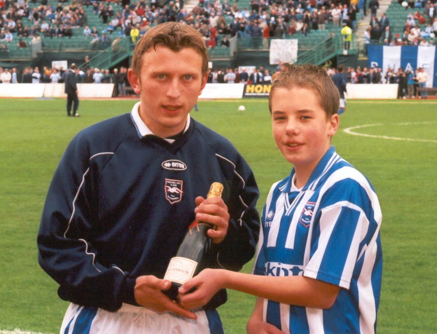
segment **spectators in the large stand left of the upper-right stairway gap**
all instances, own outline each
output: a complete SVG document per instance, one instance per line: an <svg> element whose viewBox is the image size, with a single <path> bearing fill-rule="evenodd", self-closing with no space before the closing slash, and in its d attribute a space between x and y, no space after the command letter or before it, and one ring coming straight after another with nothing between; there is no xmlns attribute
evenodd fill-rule
<svg viewBox="0 0 437 334"><path fill-rule="evenodd" d="M201 0L188 12L182 0L168 1L161 6L156 0L73 0L58 2L57 5L47 0L33 5L28 0L18 0L6 2L8 6L0 8L0 29L4 29L0 40L11 42L14 37L18 40L35 34L49 38L71 38L80 34L89 37L93 43L108 45L115 33L120 37L128 36L135 43L151 26L179 21L199 30L208 47L226 47L229 39L237 34L245 38L284 38L295 33L306 35L313 30L324 30L328 23L338 27L345 23L355 30L357 7L350 2L252 0L249 8L241 8L238 2ZM89 11L85 7L90 6L93 15L99 17L104 27L100 31L88 25Z"/></svg>

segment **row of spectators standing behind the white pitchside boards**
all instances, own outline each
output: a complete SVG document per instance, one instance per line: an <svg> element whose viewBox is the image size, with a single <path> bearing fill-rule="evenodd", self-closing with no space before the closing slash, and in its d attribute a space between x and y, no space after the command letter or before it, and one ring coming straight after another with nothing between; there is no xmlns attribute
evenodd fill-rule
<svg viewBox="0 0 437 334"><path fill-rule="evenodd" d="M207 78L208 83L247 83L247 84L271 84L276 79L280 71L284 71L289 66L288 63L279 64L274 70L265 69L263 66L251 68L248 72L246 68L235 69L212 69ZM326 62L323 69L328 75L333 76L336 70ZM109 69L76 68L76 81L78 83L114 83L114 95L127 95L126 87L127 68ZM0 83L62 83L64 82L65 71L56 68L44 67L41 71L38 67L24 68L21 73L16 68L2 69L0 67ZM426 72L422 68L418 69L388 69L383 73L381 68L353 68L347 67L345 72L346 83L350 84L398 84L397 98L426 98L426 92L418 93L419 87L425 87L427 81Z"/></svg>

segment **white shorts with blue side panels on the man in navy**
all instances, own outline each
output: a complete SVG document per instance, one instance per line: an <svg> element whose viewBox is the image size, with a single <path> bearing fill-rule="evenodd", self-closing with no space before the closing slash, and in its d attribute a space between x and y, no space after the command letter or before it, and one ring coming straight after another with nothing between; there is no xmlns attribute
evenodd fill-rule
<svg viewBox="0 0 437 334"><path fill-rule="evenodd" d="M198 310L197 320L123 304L116 312L70 304L60 334L223 334L216 310Z"/></svg>

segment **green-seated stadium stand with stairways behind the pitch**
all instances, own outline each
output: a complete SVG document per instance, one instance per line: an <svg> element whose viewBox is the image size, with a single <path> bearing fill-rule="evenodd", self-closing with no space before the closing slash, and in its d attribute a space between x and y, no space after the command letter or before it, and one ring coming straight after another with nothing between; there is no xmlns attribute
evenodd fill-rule
<svg viewBox="0 0 437 334"><path fill-rule="evenodd" d="M365 56L365 45L355 34L358 23L367 24L362 6L362 1L349 0L7 1L0 9L0 28L15 27L12 42L2 41L0 34L0 46L6 46L0 48L0 66L34 67L49 59L74 61L84 71L128 66L135 47L131 31L138 26L141 36L149 27L169 20L195 26L205 36L213 67L218 69L251 63L275 72L276 66L268 64L273 39L298 40L297 63L326 65L339 55ZM424 8L415 6L416 2L405 7L391 1L386 11L391 33L402 43L418 44L423 37L434 44L437 23L426 35L427 24L419 18L413 19L420 27L419 38L411 42L403 36L409 15L416 11L424 15ZM348 48L343 43L343 23L354 30ZM17 45L20 37L26 47ZM89 55L86 63L85 55Z"/></svg>

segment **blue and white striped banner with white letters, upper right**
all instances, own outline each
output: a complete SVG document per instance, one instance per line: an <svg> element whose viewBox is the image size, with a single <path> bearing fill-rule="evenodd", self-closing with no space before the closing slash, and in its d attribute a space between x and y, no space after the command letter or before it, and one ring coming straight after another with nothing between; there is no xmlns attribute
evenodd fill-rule
<svg viewBox="0 0 437 334"><path fill-rule="evenodd" d="M382 72L387 69L403 68L405 71L423 67L428 74L426 87L437 87L437 54L436 47L386 47L368 45L368 67L380 67Z"/></svg>

